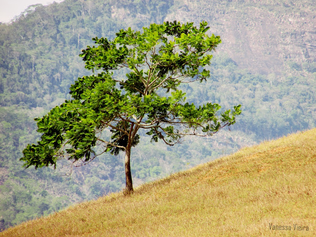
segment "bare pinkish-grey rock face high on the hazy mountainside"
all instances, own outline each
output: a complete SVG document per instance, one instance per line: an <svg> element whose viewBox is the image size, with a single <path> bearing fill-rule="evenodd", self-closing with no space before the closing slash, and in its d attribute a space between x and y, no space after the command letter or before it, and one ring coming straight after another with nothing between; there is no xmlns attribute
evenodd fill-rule
<svg viewBox="0 0 316 237"><path fill-rule="evenodd" d="M316 60L316 4L313 0L187 0L165 20L209 22L220 35L218 50L254 73L280 75L286 62Z"/></svg>

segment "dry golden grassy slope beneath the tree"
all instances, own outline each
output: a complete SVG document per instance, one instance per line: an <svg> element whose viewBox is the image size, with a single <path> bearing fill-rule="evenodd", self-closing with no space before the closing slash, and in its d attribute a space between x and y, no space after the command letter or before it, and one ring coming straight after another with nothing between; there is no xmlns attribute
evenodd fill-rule
<svg viewBox="0 0 316 237"><path fill-rule="evenodd" d="M270 223L291 231L270 230ZM80 203L0 236L316 236L316 129L142 185L130 197Z"/></svg>

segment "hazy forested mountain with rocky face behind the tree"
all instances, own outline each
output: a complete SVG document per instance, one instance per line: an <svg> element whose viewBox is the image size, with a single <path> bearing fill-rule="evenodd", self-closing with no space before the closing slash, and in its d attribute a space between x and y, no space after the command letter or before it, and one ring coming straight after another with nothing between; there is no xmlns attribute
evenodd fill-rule
<svg viewBox="0 0 316 237"><path fill-rule="evenodd" d="M313 0L65 0L30 6L0 24L0 229L122 188L122 157L105 155L74 168L22 168L34 143L35 117L69 98L88 75L78 56L92 37L163 21L207 21L221 36L202 84L183 86L188 102L242 105L232 126L169 148L146 136L132 150L136 184L316 125L316 4Z"/></svg>

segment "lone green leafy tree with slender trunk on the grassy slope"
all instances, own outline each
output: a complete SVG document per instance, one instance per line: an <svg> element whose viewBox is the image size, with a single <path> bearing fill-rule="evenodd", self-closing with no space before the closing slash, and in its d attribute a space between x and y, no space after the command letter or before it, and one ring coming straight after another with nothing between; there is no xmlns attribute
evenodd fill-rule
<svg viewBox="0 0 316 237"><path fill-rule="evenodd" d="M206 22L198 28L174 21L120 30L114 40L93 38L97 46L87 46L80 56L85 68L102 72L79 78L70 88L72 100L35 119L42 136L24 149L24 166L56 166L61 158L87 163L123 151L125 193L132 193L130 154L140 141L139 129L146 129L151 141L173 146L185 135L209 136L234 124L240 105L218 116L218 104L185 103L185 93L177 89L209 77L203 67L221 40L208 36L208 29ZM115 74L118 70L126 76Z"/></svg>

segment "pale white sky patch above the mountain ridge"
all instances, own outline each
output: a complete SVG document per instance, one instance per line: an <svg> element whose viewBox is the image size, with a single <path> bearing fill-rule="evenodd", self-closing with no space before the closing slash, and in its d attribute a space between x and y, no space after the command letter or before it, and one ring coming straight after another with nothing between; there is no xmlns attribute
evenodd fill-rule
<svg viewBox="0 0 316 237"><path fill-rule="evenodd" d="M41 3L48 5L53 1L63 0L0 0L0 22L9 22L13 17L20 15L29 5Z"/></svg>

